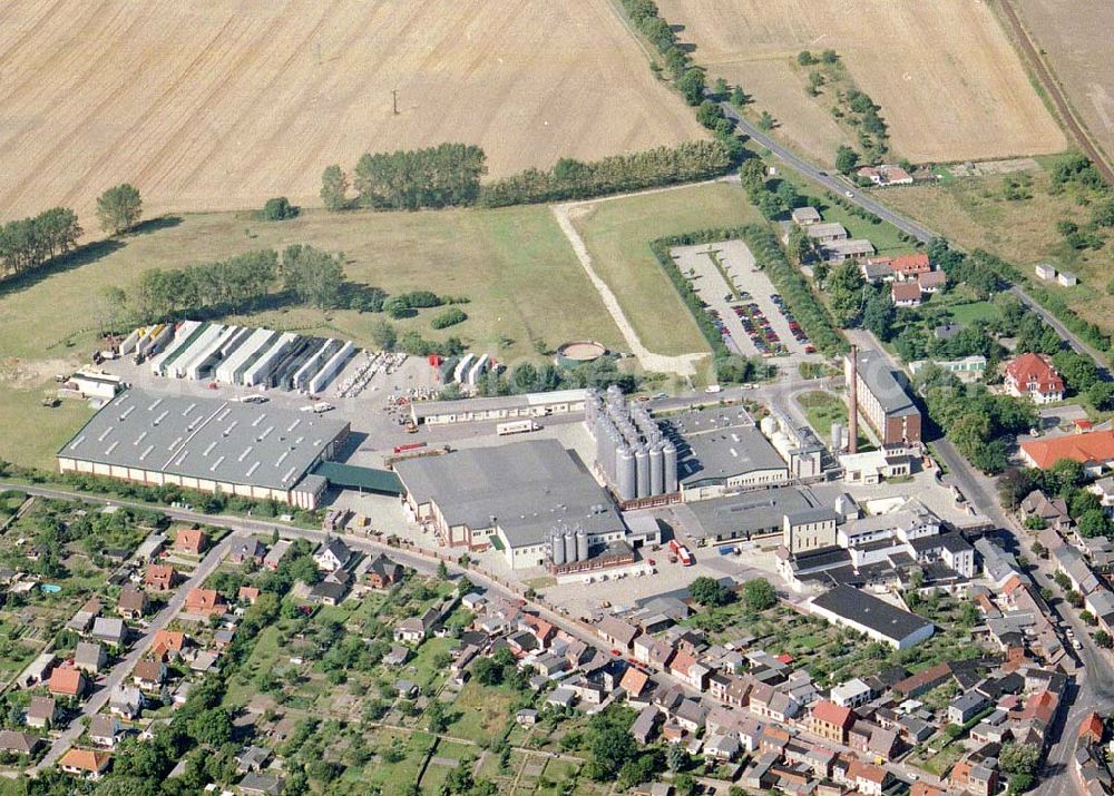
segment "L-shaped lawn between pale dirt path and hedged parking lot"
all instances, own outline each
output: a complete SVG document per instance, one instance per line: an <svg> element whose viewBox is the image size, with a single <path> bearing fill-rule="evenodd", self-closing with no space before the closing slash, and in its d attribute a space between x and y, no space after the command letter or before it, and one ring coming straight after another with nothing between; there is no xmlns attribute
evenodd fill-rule
<svg viewBox="0 0 1114 796"><path fill-rule="evenodd" d="M724 183L663 190L574 208L593 267L643 344L658 354L707 351L696 322L657 264L656 238L762 222L737 186Z"/></svg>

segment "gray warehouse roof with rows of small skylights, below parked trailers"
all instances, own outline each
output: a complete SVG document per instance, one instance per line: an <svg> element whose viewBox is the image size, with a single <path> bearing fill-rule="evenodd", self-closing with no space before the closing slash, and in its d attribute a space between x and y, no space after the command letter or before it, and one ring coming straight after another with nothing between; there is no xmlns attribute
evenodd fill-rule
<svg viewBox="0 0 1114 796"><path fill-rule="evenodd" d="M291 489L348 429L312 412L128 390L59 456L187 478Z"/></svg>

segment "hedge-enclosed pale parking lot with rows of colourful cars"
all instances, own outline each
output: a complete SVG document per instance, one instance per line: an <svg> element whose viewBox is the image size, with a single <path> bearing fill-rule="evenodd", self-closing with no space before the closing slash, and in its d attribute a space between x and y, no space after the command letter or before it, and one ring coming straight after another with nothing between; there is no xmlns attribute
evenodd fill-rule
<svg viewBox="0 0 1114 796"><path fill-rule="evenodd" d="M815 353L745 243L681 246L672 255L681 273L692 281L730 350L745 356L789 357L792 362Z"/></svg>

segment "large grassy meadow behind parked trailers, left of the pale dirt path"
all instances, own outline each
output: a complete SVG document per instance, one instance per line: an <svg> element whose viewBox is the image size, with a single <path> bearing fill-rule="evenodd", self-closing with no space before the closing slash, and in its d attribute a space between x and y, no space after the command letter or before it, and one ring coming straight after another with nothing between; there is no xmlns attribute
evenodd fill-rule
<svg viewBox="0 0 1114 796"><path fill-rule="evenodd" d="M145 268L180 268L294 243L343 252L353 282L388 293L428 288L469 301L463 306L468 320L461 324L433 330L430 321L440 311L424 309L394 322L400 332L413 328L432 340L457 335L505 362L569 340L622 347L622 335L544 206L311 210L281 223L258 222L250 214L184 215L49 276L0 283L0 459L53 468L56 450L89 416L78 402L53 410L39 404L52 394L56 373L87 364L108 314L104 288L127 287ZM383 317L294 307L232 320L371 345L371 330Z"/></svg>

